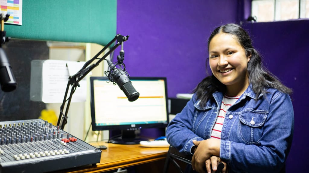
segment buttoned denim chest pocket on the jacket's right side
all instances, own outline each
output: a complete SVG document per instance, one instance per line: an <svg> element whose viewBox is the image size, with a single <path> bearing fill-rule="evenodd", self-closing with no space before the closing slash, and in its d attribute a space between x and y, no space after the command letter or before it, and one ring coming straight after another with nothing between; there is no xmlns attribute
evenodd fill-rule
<svg viewBox="0 0 309 173"><path fill-rule="evenodd" d="M259 143L268 111L245 110L239 115L239 136L248 144Z"/></svg>

